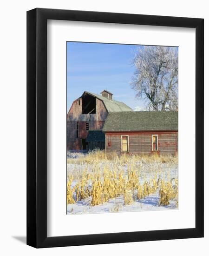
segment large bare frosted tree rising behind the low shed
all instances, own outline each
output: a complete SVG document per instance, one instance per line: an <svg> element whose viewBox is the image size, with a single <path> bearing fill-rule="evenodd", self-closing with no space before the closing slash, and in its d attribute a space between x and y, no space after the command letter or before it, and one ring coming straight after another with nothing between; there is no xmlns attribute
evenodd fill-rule
<svg viewBox="0 0 209 256"><path fill-rule="evenodd" d="M178 109L177 47L139 47L133 60L136 71L131 82L136 97L148 110Z"/></svg>

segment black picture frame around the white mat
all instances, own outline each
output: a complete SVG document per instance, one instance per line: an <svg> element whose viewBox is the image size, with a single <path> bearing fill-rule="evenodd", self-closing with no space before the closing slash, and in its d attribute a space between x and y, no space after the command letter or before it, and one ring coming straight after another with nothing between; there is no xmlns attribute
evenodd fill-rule
<svg viewBox="0 0 209 256"><path fill-rule="evenodd" d="M47 20L196 28L196 227L47 237ZM203 237L204 20L36 8L27 12L27 244L35 248Z"/></svg>

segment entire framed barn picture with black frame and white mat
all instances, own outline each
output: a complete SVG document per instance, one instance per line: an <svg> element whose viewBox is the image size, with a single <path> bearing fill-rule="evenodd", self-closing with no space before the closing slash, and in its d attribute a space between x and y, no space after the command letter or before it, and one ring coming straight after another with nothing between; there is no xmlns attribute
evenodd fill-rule
<svg viewBox="0 0 209 256"><path fill-rule="evenodd" d="M203 19L27 12L27 244L203 237Z"/></svg>

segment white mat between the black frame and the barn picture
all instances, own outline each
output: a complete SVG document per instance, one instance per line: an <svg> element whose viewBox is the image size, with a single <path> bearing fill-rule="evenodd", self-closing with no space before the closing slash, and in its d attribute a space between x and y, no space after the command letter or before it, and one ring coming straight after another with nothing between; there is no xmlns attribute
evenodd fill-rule
<svg viewBox="0 0 209 256"><path fill-rule="evenodd" d="M66 215L66 41L179 46L179 209ZM47 236L194 227L195 29L48 20Z"/></svg>

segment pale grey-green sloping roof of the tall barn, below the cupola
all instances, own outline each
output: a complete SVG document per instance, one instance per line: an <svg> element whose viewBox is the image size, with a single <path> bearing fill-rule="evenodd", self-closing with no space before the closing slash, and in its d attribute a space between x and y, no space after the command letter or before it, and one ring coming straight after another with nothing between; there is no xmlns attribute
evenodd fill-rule
<svg viewBox="0 0 209 256"><path fill-rule="evenodd" d="M98 98L99 100L103 101L104 106L108 112L133 111L133 109L128 107L127 105L125 105L124 102L109 100L109 99L103 97L102 95L98 95L98 94L94 94L94 93L90 93L90 92L86 92L86 91L84 93L90 94L90 95Z"/></svg>

